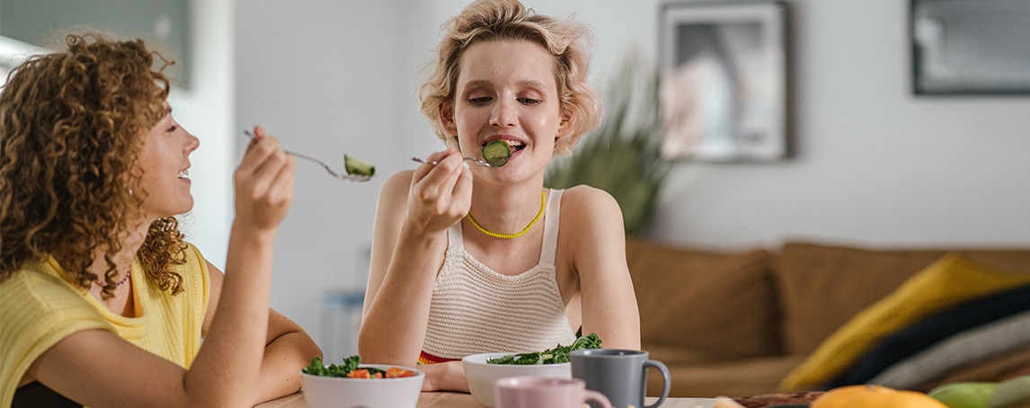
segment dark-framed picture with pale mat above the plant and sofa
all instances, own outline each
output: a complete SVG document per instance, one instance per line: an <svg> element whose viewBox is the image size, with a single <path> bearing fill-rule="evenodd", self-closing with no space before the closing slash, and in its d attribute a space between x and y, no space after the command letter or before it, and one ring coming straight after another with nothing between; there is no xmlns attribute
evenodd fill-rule
<svg viewBox="0 0 1030 408"><path fill-rule="evenodd" d="M783 1L660 8L662 156L705 162L789 157Z"/></svg>

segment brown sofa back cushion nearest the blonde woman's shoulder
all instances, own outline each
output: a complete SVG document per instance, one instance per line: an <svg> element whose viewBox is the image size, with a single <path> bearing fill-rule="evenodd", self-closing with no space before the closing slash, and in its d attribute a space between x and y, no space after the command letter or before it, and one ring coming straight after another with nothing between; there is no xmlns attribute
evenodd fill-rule
<svg viewBox="0 0 1030 408"><path fill-rule="evenodd" d="M765 249L715 251L629 238L626 261L643 343L676 345L713 360L780 351Z"/></svg>

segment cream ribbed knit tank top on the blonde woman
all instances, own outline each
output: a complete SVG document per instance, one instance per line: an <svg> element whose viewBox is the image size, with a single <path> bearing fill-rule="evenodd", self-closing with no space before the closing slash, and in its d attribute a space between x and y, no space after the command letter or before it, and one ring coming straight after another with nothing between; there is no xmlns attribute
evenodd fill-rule
<svg viewBox="0 0 1030 408"><path fill-rule="evenodd" d="M518 275L497 273L472 258L465 250L461 223L447 231L423 353L460 360L482 352L542 351L576 341L555 277L561 193L551 190L547 199L540 262Z"/></svg>

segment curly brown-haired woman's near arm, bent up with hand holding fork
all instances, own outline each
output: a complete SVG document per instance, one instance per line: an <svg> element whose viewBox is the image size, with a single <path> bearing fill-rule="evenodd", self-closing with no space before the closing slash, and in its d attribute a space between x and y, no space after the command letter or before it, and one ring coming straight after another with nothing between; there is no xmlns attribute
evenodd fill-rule
<svg viewBox="0 0 1030 408"><path fill-rule="evenodd" d="M250 407L269 327L272 244L293 198L296 163L255 129L236 170L220 306L190 370L103 330L65 337L27 374L87 406Z"/></svg>

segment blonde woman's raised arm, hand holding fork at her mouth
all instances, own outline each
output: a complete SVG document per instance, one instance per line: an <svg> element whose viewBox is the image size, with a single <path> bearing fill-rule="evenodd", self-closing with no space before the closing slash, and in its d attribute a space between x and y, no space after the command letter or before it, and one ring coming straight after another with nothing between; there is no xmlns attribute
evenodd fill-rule
<svg viewBox="0 0 1030 408"><path fill-rule="evenodd" d="M383 185L357 349L362 360L413 366L425 337L447 228L469 212L472 174L454 148Z"/></svg>

